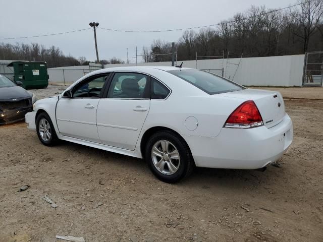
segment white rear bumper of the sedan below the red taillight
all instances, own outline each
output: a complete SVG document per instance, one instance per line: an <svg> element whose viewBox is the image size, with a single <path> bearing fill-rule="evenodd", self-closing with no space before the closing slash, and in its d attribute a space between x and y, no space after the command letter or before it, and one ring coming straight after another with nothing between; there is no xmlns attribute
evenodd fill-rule
<svg viewBox="0 0 323 242"><path fill-rule="evenodd" d="M272 127L223 128L217 137L185 137L196 166L258 169L277 161L293 140L292 120L286 114Z"/></svg>

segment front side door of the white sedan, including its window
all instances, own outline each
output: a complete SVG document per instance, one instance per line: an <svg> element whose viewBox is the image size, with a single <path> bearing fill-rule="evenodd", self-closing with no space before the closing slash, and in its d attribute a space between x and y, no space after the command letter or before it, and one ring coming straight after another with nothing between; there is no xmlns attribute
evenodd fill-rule
<svg viewBox="0 0 323 242"><path fill-rule="evenodd" d="M100 142L96 109L106 77L106 74L89 77L71 90L72 97L62 97L58 101L56 118L62 135Z"/></svg>

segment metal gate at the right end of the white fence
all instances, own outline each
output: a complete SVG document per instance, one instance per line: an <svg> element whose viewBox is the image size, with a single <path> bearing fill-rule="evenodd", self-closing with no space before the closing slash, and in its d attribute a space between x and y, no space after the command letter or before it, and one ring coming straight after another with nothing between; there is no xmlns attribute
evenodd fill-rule
<svg viewBox="0 0 323 242"><path fill-rule="evenodd" d="M322 86L323 51L306 52L303 71L303 86Z"/></svg>

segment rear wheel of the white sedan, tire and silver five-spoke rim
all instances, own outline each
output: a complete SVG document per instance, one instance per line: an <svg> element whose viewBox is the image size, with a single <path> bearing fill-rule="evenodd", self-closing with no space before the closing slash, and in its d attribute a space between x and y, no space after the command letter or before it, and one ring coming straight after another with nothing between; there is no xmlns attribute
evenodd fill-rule
<svg viewBox="0 0 323 242"><path fill-rule="evenodd" d="M192 171L194 161L187 144L171 132L152 135L145 153L152 173L166 183L176 183Z"/></svg>

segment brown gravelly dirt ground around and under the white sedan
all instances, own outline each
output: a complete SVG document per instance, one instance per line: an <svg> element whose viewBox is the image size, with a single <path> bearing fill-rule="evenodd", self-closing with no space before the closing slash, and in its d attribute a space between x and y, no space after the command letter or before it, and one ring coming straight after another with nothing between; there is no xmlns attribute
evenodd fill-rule
<svg viewBox="0 0 323 242"><path fill-rule="evenodd" d="M46 147L24 123L2 126L0 241L323 241L323 100L285 103L294 142L281 168L197 168L175 185L143 160L68 142Z"/></svg>

